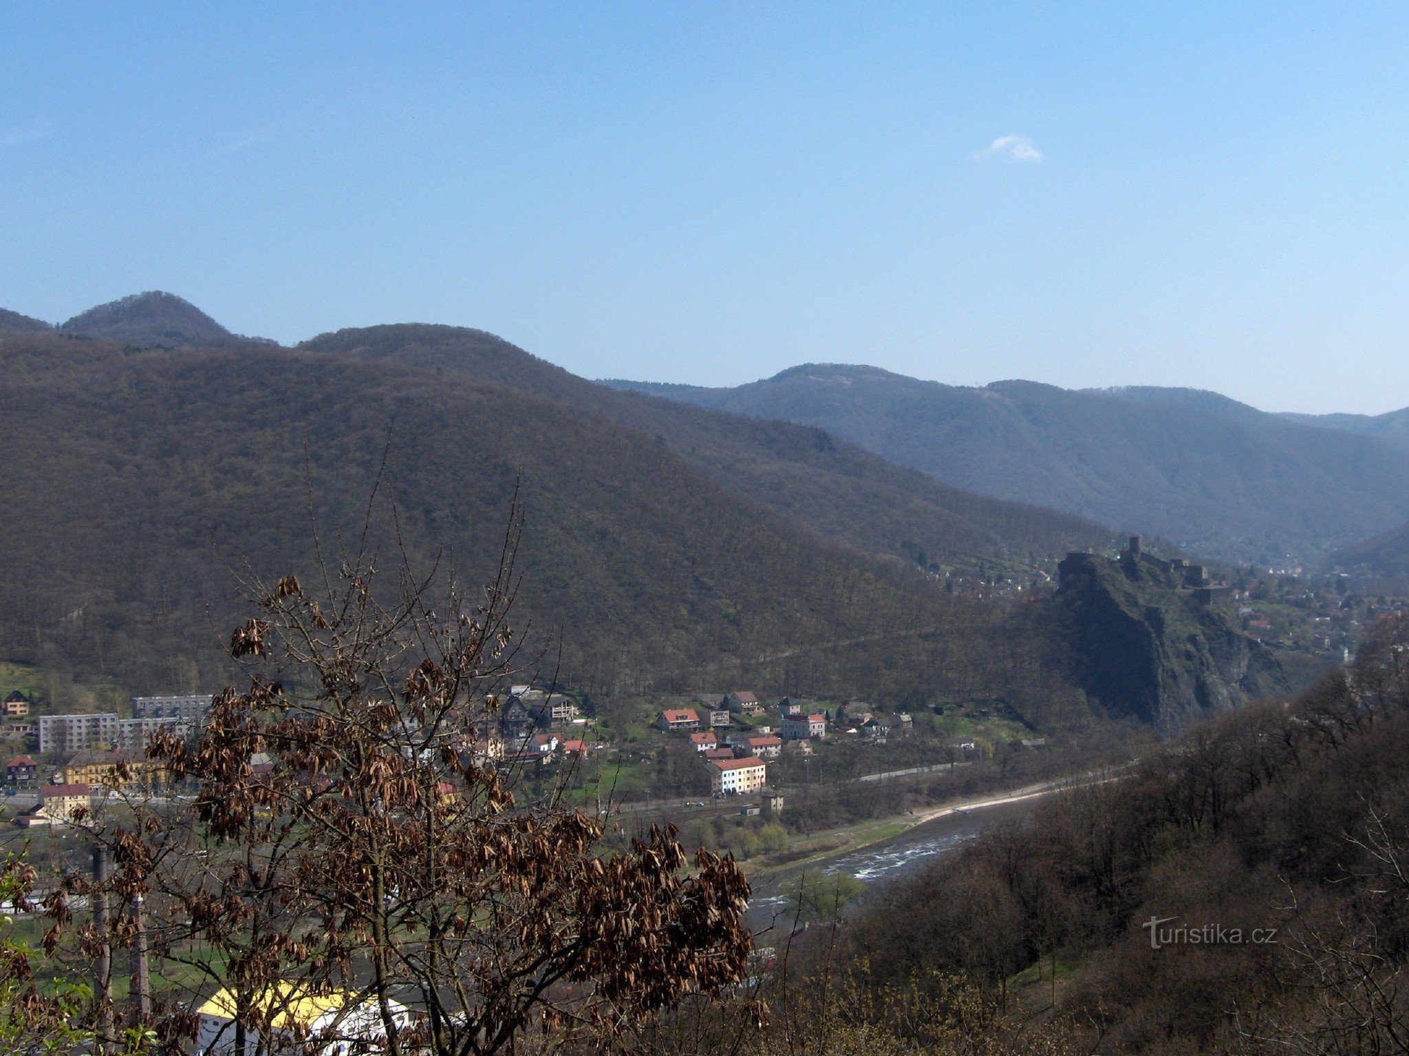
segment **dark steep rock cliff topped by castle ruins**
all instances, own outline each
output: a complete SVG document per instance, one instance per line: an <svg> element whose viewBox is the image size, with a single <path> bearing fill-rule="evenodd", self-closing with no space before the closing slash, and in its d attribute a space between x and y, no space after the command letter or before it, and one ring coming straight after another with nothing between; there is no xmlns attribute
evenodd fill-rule
<svg viewBox="0 0 1409 1056"><path fill-rule="evenodd" d="M1241 632L1216 591L1200 603L1179 565L1138 552L1069 553L1060 572L1076 680L1112 718L1169 735L1286 690L1275 655Z"/></svg>

